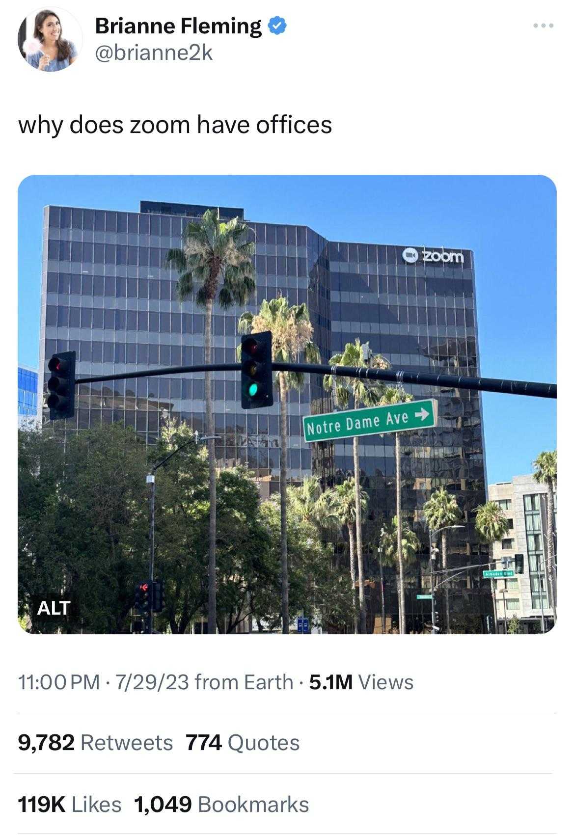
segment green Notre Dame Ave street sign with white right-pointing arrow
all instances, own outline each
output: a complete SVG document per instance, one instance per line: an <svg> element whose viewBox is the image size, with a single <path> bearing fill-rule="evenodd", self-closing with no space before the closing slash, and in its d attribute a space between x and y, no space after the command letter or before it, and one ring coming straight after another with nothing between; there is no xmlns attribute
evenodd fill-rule
<svg viewBox="0 0 574 835"><path fill-rule="evenodd" d="M409 432L436 426L436 400L414 400L396 406L372 406L303 417L303 434L307 443L354 438L355 435L382 435L387 432Z"/></svg>

